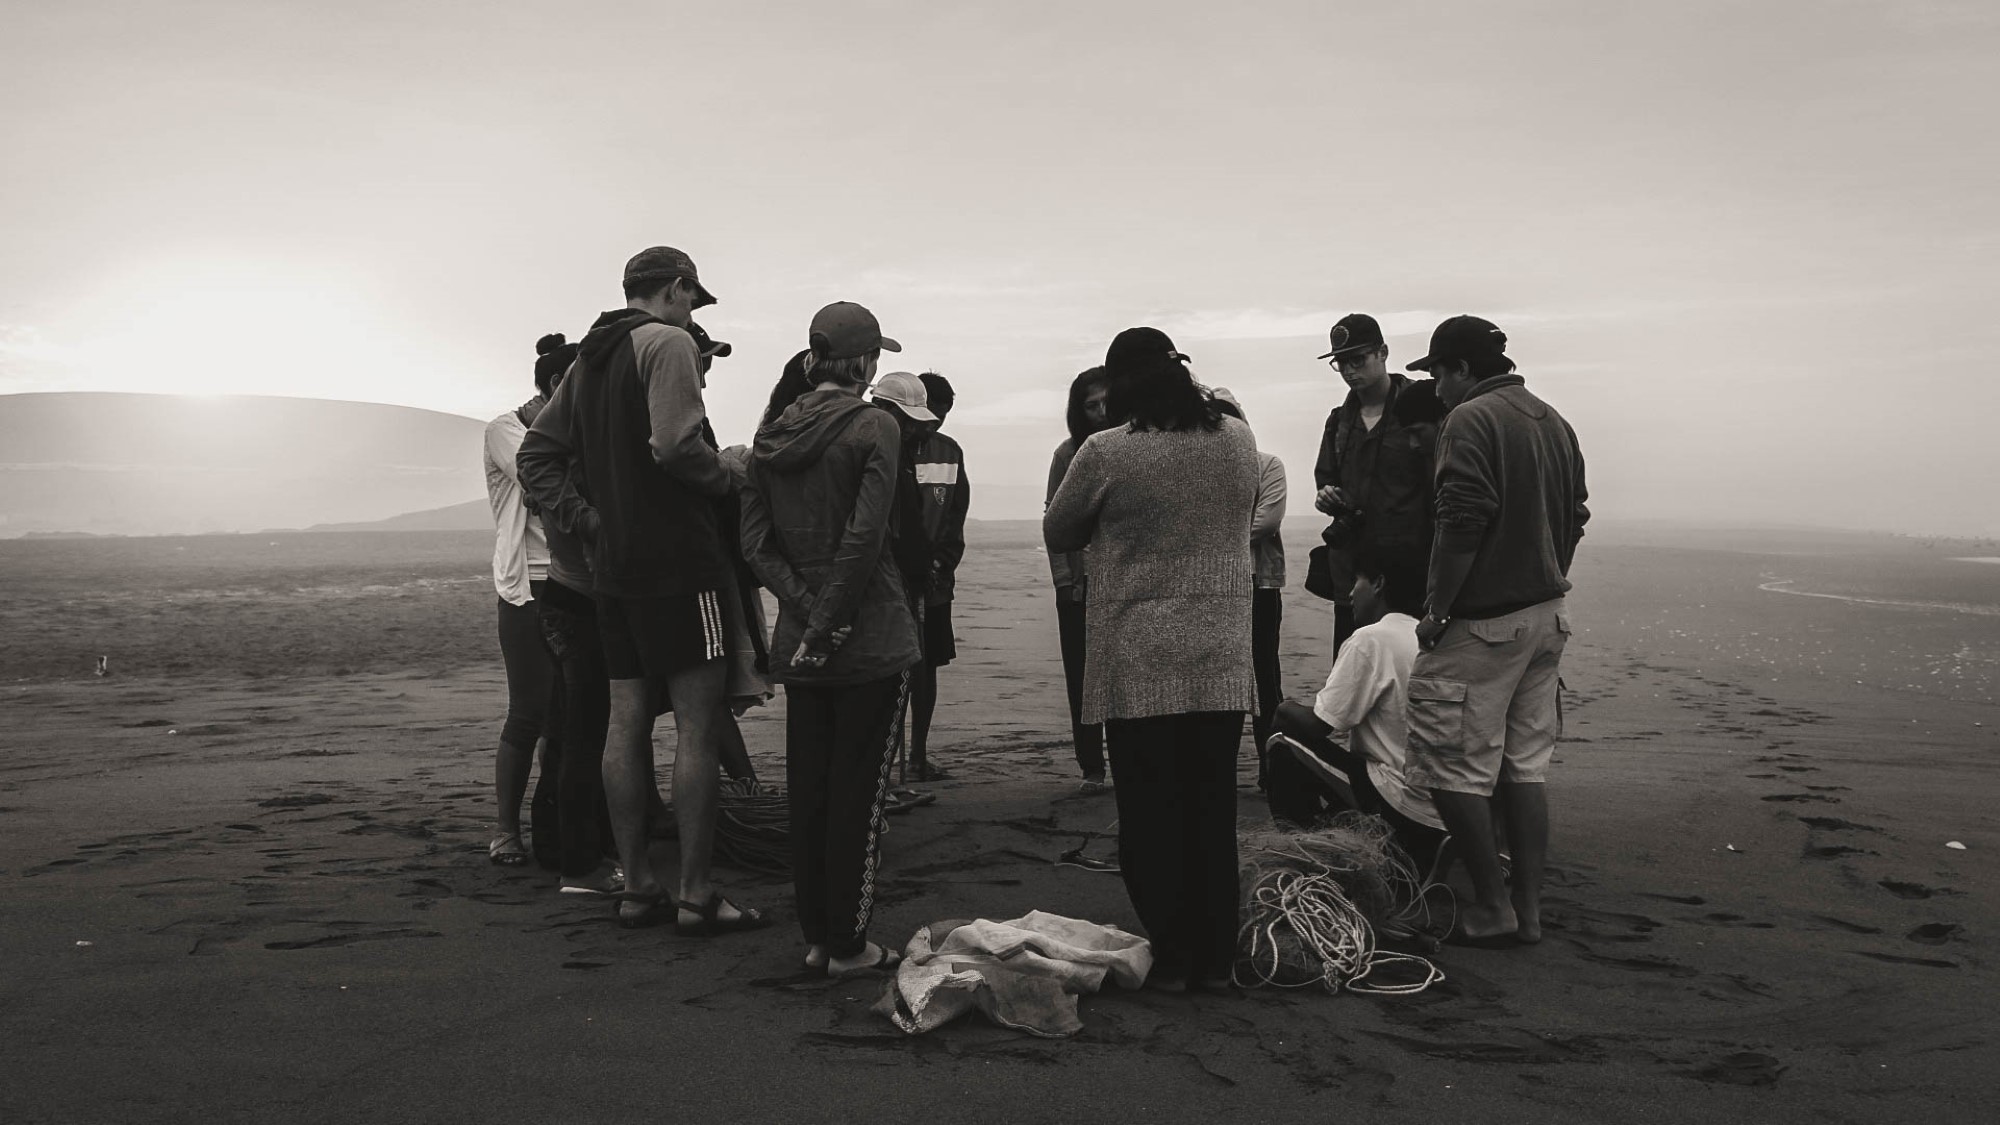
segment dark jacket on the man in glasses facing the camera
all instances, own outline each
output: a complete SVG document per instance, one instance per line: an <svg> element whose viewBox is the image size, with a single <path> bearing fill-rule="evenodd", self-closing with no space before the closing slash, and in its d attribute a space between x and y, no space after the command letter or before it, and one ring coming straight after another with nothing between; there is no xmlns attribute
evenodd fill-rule
<svg viewBox="0 0 2000 1125"><path fill-rule="evenodd" d="M1432 462L1438 446L1436 392L1430 382L1390 374L1382 420L1362 426L1354 392L1326 416L1320 458L1312 466L1314 490L1334 484L1360 510L1358 528L1340 534L1328 528L1330 569L1336 601L1346 601L1354 585L1354 556L1380 550L1430 558Z"/></svg>

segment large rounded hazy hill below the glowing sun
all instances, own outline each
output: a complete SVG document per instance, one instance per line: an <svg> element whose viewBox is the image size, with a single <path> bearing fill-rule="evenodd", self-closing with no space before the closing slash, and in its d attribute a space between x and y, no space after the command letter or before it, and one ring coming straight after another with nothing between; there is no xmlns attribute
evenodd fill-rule
<svg viewBox="0 0 2000 1125"><path fill-rule="evenodd" d="M486 492L484 428L326 398L0 394L0 536L260 530L462 504Z"/></svg>

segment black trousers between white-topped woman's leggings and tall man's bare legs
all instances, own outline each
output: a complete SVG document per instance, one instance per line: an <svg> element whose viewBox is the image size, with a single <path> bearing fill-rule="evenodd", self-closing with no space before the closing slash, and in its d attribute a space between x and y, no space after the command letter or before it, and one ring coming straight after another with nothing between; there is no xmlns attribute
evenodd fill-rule
<svg viewBox="0 0 2000 1125"><path fill-rule="evenodd" d="M554 777L548 821L554 825L558 869L590 875L612 853L612 817L604 805L604 733L610 725L610 679L598 613L588 595L556 581L544 585L542 641L556 661L560 707L550 711L542 781ZM542 785L536 785L536 837L542 835Z"/></svg>

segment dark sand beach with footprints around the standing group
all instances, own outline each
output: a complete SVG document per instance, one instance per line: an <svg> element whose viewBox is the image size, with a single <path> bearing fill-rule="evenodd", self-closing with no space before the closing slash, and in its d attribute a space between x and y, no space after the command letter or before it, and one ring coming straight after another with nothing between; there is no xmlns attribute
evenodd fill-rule
<svg viewBox="0 0 2000 1125"><path fill-rule="evenodd" d="M1074 795L1036 544L972 526L956 775L886 839L884 941L1136 927L1050 863L1114 813ZM1038 1041L906 1039L878 981L798 975L786 881L724 871L780 925L700 943L490 867L488 552L0 542L0 1121L1994 1119L2000 567L1586 538L1548 941L1414 997L1114 991ZM1328 613L1286 599L1304 695ZM780 777L782 701L746 737Z"/></svg>

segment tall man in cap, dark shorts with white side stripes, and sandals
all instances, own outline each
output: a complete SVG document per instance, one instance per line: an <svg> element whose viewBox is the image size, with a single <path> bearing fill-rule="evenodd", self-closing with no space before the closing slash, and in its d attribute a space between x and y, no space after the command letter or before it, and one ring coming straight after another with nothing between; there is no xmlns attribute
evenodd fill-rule
<svg viewBox="0 0 2000 1125"><path fill-rule="evenodd" d="M590 326L576 366L522 440L518 466L542 518L578 532L590 550L610 677L604 797L626 869L618 921L672 921L688 935L756 929L764 915L736 907L708 879L716 761L730 721L722 597L738 552L724 540L718 500L742 476L708 436L702 344L692 334L692 312L716 298L672 246L634 254L624 294L624 308ZM660 887L646 853L646 807L656 795L650 685L666 687L680 729L674 893Z"/></svg>

